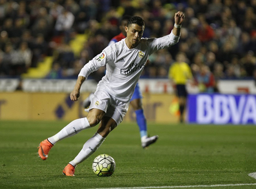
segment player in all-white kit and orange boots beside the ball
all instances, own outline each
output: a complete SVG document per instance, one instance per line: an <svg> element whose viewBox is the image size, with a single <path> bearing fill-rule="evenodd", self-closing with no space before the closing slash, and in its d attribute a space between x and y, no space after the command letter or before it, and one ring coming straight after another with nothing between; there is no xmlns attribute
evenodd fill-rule
<svg viewBox="0 0 256 189"><path fill-rule="evenodd" d="M82 68L74 90L70 94L73 101L78 100L80 87L88 75L102 66L107 67L106 75L98 83L92 98L89 114L85 118L72 121L59 133L42 141L38 147L41 159L48 158L50 149L57 142L100 123L97 132L86 141L78 155L63 169L63 174L74 176L77 165L96 152L108 134L123 120L149 55L178 43L184 20L183 12L176 12L174 20L174 28L169 35L144 39L142 38L145 29L144 20L138 16L131 17L125 27L126 38L103 49Z"/></svg>

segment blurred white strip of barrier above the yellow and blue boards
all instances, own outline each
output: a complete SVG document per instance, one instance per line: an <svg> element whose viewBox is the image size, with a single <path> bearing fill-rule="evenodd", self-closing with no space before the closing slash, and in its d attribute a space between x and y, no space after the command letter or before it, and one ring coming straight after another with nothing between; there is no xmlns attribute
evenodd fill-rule
<svg viewBox="0 0 256 189"><path fill-rule="evenodd" d="M0 92L14 92L19 79L0 79ZM21 81L21 89L24 92L71 92L75 86L75 79L24 79ZM249 93L256 94L256 85L253 80L220 80L217 84L219 92L223 94ZM97 83L94 80L86 80L82 85L81 92L94 92ZM140 79L139 87L142 92L172 93L168 79ZM189 93L199 93L196 86L187 85Z"/></svg>

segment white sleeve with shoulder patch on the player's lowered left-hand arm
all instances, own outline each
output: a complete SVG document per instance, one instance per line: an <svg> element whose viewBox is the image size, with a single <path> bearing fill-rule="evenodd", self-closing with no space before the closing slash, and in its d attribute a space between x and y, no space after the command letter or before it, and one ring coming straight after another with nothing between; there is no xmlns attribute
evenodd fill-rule
<svg viewBox="0 0 256 189"><path fill-rule="evenodd" d="M100 67L105 66L108 62L109 57L107 57L106 52L103 50L96 57L91 59L80 71L79 76L83 76L86 79L91 72L98 70Z"/></svg>

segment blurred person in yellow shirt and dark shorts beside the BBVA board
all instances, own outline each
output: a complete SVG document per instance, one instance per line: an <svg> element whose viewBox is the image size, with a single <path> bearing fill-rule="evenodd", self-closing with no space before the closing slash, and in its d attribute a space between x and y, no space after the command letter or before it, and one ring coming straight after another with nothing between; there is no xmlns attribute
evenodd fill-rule
<svg viewBox="0 0 256 189"><path fill-rule="evenodd" d="M176 92L179 98L179 110L180 118L179 121L182 123L184 121L183 113L186 106L187 100L187 89L186 83L189 79L192 79L192 72L189 65L185 62L187 59L184 53L178 53L176 55L176 61L170 66L169 69L169 79L173 86L173 90Z"/></svg>

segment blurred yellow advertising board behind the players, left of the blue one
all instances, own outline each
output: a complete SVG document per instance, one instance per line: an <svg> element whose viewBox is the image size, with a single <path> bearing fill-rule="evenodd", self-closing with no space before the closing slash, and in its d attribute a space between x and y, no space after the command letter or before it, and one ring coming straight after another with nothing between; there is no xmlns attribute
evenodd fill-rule
<svg viewBox="0 0 256 189"><path fill-rule="evenodd" d="M0 93L0 120L67 120L86 117L81 94L78 102L72 102L67 93ZM177 122L177 99L170 94L143 95L144 113L150 122ZM124 122L135 121L132 107Z"/></svg>

